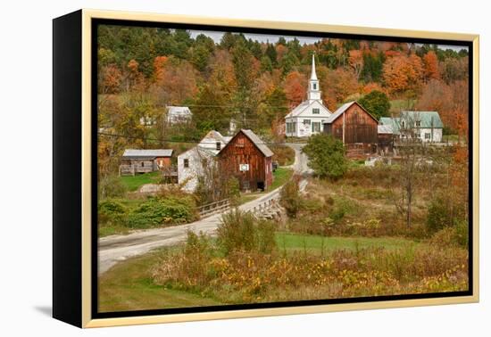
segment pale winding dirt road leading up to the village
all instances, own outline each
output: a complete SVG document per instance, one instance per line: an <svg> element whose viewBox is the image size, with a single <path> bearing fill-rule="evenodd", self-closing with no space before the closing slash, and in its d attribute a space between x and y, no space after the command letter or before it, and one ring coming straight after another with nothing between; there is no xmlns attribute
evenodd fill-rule
<svg viewBox="0 0 491 337"><path fill-rule="evenodd" d="M302 153L303 144L287 144L295 150L295 162L293 168L299 174L308 174L310 169L307 166L308 158ZM300 182L303 191L307 185L306 179ZM241 205L240 210L253 210L255 207L279 198L279 190L266 193L253 201ZM195 233L214 234L220 224L221 214L215 214L209 218L200 219L196 222L181 226L171 226L166 228L155 228L137 231L127 235L111 235L100 238L98 241L98 274L103 274L116 263L141 255L158 247L171 246L182 242L186 238L188 230Z"/></svg>

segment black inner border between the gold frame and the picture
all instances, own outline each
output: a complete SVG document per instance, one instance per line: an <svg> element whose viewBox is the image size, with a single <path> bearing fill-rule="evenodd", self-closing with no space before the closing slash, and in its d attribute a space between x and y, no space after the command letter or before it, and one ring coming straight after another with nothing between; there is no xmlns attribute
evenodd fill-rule
<svg viewBox="0 0 491 337"><path fill-rule="evenodd" d="M472 296L474 294L474 251L473 251L473 167L474 167L474 125L473 125L473 94L474 94L474 50L472 41L449 40L439 38L420 38L420 37L387 37L383 35L363 35L363 34L345 34L345 33L329 33L320 31L304 31L304 30L289 30L289 29L257 29L244 28L237 26L220 26L220 25L205 25L205 24L190 24L190 23L172 23L172 22L155 22L155 21L129 21L119 19L91 19L91 191L92 210L97 210L97 135L94 130L97 130L97 26L98 25L116 25L126 27L145 27L145 28L163 28L163 29L193 29L193 30L212 30L224 32L242 32L252 34L270 34L284 35L297 37L333 37L347 39L362 39L370 41L391 41L391 42L408 42L420 44L437 44L437 45L462 45L469 48L469 290L465 292L434 292L420 294L401 294L387 296L370 296L358 298L343 298L343 299L327 299L327 300L298 300L298 301L281 301L270 303L250 303L250 304L234 304L223 306L207 306L207 307L187 307L187 308L162 308L148 310L129 310L116 312L98 312L98 273L97 273L97 213L91 214L91 318L117 318L128 316L154 316L154 315L172 315L172 314L187 314L200 312L217 312L217 311L232 311L243 309L262 309L262 308L284 308L284 307L303 307L303 306L318 306L341 303L366 303L379 302L390 300L421 300L421 299L437 299L460 296ZM360 28L362 30L363 28Z"/></svg>

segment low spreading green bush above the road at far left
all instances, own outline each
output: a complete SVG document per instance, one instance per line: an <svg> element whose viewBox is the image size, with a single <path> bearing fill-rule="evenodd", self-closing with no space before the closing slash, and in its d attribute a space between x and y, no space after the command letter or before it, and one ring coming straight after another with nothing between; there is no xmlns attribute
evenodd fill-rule
<svg viewBox="0 0 491 337"><path fill-rule="evenodd" d="M130 228L149 228L186 224L197 218L196 202L191 196L153 197L129 213L127 225Z"/></svg>

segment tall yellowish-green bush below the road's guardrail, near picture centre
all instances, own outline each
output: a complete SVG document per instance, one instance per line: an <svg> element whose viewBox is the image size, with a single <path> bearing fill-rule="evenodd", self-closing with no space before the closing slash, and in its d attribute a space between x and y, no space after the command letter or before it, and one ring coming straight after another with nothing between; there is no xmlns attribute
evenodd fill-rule
<svg viewBox="0 0 491 337"><path fill-rule="evenodd" d="M221 216L217 245L226 255L232 251L270 252L276 248L276 224L258 220L250 212L231 210Z"/></svg>

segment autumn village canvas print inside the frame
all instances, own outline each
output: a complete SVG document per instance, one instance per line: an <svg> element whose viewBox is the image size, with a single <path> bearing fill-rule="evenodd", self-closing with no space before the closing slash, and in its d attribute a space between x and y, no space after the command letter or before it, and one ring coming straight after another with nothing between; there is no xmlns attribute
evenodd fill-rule
<svg viewBox="0 0 491 337"><path fill-rule="evenodd" d="M99 24L97 311L468 293L469 56Z"/></svg>

